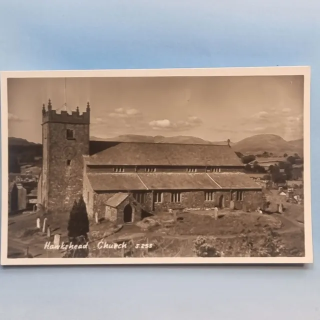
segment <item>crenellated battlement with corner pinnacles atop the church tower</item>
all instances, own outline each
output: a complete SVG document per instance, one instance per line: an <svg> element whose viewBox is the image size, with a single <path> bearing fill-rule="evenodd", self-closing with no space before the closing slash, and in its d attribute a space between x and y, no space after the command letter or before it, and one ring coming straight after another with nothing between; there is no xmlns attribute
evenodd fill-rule
<svg viewBox="0 0 320 320"><path fill-rule="evenodd" d="M52 109L49 99L47 109L45 109L44 103L42 105L42 124L46 122L90 124L90 104L87 102L86 110L81 114L78 106L75 111L71 111L71 114L66 110L61 110L58 113Z"/></svg>

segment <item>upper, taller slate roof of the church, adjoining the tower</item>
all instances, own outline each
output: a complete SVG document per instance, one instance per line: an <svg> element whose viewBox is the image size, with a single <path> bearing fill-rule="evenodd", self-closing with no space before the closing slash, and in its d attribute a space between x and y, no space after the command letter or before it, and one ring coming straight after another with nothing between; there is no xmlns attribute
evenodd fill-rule
<svg viewBox="0 0 320 320"><path fill-rule="evenodd" d="M243 166L227 145L90 141L88 164Z"/></svg>

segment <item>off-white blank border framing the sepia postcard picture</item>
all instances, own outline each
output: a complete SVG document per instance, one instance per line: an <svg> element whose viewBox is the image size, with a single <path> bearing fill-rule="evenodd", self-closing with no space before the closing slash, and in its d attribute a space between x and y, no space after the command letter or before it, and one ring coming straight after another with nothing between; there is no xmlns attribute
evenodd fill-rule
<svg viewBox="0 0 320 320"><path fill-rule="evenodd" d="M312 263L311 174L310 174L310 67L236 67L192 69L127 69L1 72L1 264L72 265L72 264L277 264ZM7 258L8 200L8 106L7 78L34 77L138 77L138 76L265 76L304 75L303 148L304 148L304 257L151 257L151 258Z"/></svg>

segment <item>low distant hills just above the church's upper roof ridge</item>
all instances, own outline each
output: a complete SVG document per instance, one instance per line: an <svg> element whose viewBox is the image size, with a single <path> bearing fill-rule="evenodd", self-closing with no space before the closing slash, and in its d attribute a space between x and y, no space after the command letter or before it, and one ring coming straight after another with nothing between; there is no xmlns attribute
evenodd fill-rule
<svg viewBox="0 0 320 320"><path fill-rule="evenodd" d="M123 134L112 138L99 138L90 136L91 140L95 141L121 141L121 142L153 142L153 143L191 143L191 144L227 144L226 141L208 141L195 136L175 135L175 136L163 136L163 135L139 135L139 134ZM232 145L232 142L230 142Z"/></svg>

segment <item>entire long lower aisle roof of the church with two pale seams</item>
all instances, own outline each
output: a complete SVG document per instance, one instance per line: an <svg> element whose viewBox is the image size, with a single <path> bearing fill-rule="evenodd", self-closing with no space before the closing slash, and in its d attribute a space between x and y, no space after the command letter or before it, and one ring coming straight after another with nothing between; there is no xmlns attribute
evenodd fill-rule
<svg viewBox="0 0 320 320"><path fill-rule="evenodd" d="M87 173L87 177L94 191L261 189L242 172Z"/></svg>

